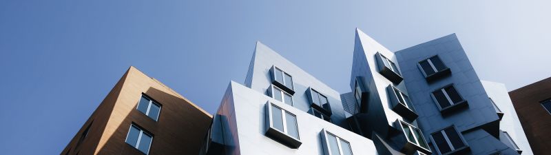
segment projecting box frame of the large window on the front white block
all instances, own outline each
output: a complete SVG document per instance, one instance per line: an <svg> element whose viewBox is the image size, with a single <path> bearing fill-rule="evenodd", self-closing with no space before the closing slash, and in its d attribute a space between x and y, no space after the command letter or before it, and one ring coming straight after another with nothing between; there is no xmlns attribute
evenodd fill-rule
<svg viewBox="0 0 551 155"><path fill-rule="evenodd" d="M293 112L290 112L289 110L285 110L282 106L276 103L267 102L265 104L265 107L266 107L265 118L267 123L265 135L293 149L300 147L300 145L302 145L302 142L300 141L300 130L299 130L300 127L298 126L299 124L298 116L296 114L293 114ZM283 131L278 130L273 125L273 110L271 109L272 107L275 107L281 110ZM295 126L296 126L297 137L291 136L291 134L289 134L289 129L287 128L286 114L291 114L292 116L295 116Z"/></svg>

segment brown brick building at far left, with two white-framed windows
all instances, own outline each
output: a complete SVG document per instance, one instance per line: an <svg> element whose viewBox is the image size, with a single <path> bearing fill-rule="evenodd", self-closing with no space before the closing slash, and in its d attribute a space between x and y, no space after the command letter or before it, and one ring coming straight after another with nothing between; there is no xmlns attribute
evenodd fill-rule
<svg viewBox="0 0 551 155"><path fill-rule="evenodd" d="M212 116L134 67L63 154L198 154Z"/></svg>

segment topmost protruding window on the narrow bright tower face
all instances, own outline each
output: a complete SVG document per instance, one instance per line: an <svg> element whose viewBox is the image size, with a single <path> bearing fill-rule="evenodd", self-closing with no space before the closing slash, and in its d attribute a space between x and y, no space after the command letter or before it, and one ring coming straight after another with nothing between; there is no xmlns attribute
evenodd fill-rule
<svg viewBox="0 0 551 155"><path fill-rule="evenodd" d="M375 59L377 59L379 73L385 76L386 79L392 81L393 83L400 83L402 81L402 74L400 74L400 71L395 63L379 52L375 54Z"/></svg>

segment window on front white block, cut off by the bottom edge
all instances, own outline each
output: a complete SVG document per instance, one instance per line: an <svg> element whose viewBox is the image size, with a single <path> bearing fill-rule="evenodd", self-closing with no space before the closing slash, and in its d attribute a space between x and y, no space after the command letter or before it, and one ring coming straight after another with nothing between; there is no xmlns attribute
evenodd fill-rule
<svg viewBox="0 0 551 155"><path fill-rule="evenodd" d="M322 130L322 143L326 155L352 155L352 148L348 141Z"/></svg>

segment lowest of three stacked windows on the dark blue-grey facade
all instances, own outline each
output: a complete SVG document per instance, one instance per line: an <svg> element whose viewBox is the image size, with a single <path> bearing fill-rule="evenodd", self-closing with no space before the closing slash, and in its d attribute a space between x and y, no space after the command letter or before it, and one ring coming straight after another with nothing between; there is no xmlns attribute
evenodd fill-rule
<svg viewBox="0 0 551 155"><path fill-rule="evenodd" d="M446 127L444 130L431 134L431 136L440 154L450 154L468 147L465 140L461 134L457 132L454 126Z"/></svg>

